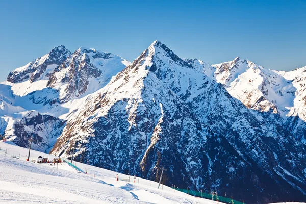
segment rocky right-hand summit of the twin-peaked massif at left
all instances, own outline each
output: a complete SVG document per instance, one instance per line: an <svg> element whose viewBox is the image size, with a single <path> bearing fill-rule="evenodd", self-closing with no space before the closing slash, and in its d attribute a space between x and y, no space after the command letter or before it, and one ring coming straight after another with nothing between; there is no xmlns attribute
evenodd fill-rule
<svg viewBox="0 0 306 204"><path fill-rule="evenodd" d="M94 92L105 86L129 64L117 55L81 47L54 70L47 86L60 89L63 93L60 101L65 103L86 91Z"/></svg>

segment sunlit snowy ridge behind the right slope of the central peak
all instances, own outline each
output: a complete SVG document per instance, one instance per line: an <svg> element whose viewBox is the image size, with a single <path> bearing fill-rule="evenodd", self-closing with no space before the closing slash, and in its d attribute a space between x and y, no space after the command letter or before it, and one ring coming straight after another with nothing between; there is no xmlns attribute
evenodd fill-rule
<svg viewBox="0 0 306 204"><path fill-rule="evenodd" d="M186 60L239 99L247 108L276 114L274 122L306 144L304 68L274 71L253 62L235 58L233 61L210 65L201 60Z"/></svg>

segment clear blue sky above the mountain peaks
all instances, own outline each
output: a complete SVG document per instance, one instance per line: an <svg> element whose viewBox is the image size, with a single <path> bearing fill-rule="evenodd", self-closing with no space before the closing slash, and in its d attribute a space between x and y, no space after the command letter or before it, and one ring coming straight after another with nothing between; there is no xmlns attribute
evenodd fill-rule
<svg viewBox="0 0 306 204"><path fill-rule="evenodd" d="M65 45L133 61L154 40L181 58L306 66L306 1L1 1L0 80Z"/></svg>

